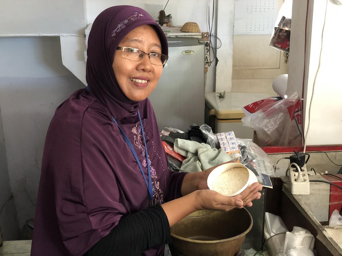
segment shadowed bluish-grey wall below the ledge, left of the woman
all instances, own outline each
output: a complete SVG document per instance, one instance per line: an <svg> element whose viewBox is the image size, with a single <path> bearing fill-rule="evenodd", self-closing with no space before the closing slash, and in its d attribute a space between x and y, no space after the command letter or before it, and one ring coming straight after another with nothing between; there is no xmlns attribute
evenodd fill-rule
<svg viewBox="0 0 342 256"><path fill-rule="evenodd" d="M15 228L21 229L35 215L50 120L57 106L84 85L62 65L59 37L0 38L0 56L0 109L8 177L18 218ZM0 194L10 197L4 189L0 187ZM5 221L13 218L10 213Z"/></svg>

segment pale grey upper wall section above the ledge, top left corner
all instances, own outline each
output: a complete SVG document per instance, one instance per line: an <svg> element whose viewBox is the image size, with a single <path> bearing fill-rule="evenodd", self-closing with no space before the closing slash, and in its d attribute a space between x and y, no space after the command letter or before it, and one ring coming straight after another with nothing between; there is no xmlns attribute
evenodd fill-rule
<svg viewBox="0 0 342 256"><path fill-rule="evenodd" d="M83 35L83 0L1 0L0 24L0 35Z"/></svg>

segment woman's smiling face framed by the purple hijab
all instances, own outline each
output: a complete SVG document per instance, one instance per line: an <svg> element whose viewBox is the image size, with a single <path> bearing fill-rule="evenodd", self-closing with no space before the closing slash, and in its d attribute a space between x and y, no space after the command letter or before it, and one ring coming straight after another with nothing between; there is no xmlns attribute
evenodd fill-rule
<svg viewBox="0 0 342 256"><path fill-rule="evenodd" d="M149 25L133 29L120 42L121 47L133 47L146 53L161 53L161 44L157 32ZM142 101L157 86L163 66L152 65L148 55L140 61L132 61L122 57L117 50L113 60L113 70L121 90L127 98ZM132 79L145 80L147 83L134 82Z"/></svg>

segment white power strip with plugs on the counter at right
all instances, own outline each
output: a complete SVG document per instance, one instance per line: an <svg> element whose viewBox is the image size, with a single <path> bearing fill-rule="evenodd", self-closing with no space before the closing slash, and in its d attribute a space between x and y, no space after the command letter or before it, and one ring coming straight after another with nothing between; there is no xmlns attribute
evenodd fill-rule
<svg viewBox="0 0 342 256"><path fill-rule="evenodd" d="M310 181L306 167L302 167L302 172L296 172L296 167L289 167L290 187L292 195L309 195ZM302 180L302 181L301 181Z"/></svg>

